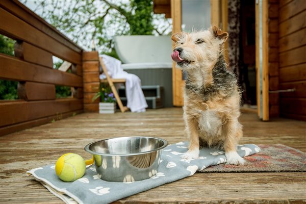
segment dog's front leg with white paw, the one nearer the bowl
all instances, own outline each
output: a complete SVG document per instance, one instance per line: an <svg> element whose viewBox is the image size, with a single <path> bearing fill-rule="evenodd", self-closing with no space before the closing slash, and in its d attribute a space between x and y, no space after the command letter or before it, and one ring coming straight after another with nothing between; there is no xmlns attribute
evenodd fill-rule
<svg viewBox="0 0 306 204"><path fill-rule="evenodd" d="M188 151L181 157L182 159L197 159L199 157L199 136L198 121L195 118L186 118L186 131L189 138Z"/></svg>

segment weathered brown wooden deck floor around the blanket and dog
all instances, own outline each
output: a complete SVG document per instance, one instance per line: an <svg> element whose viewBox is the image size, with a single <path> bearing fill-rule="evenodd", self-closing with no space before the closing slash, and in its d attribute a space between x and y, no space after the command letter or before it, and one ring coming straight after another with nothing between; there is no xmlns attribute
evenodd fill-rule
<svg viewBox="0 0 306 204"><path fill-rule="evenodd" d="M67 152L90 155L92 141L118 137L156 136L175 143L187 140L181 108L146 113L84 113L0 137L0 203L62 203L25 171L55 163ZM306 123L289 119L261 122L245 112L241 143L282 143L306 151ZM196 173L118 203L305 203L306 173Z"/></svg>

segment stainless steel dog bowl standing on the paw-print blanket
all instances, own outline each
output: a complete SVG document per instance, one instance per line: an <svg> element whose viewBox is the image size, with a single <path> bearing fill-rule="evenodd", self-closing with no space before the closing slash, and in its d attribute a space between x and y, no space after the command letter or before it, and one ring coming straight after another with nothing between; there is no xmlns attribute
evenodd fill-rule
<svg viewBox="0 0 306 204"><path fill-rule="evenodd" d="M134 182L156 174L164 139L154 137L119 137L85 146L93 155L98 176L110 182Z"/></svg>

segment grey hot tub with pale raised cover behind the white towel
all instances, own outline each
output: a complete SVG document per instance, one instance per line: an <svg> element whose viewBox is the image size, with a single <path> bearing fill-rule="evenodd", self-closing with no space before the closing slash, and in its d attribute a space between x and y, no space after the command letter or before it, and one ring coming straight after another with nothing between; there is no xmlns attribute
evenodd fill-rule
<svg viewBox="0 0 306 204"><path fill-rule="evenodd" d="M122 68L143 86L163 87L163 105L172 107L171 36L116 36L114 42Z"/></svg>

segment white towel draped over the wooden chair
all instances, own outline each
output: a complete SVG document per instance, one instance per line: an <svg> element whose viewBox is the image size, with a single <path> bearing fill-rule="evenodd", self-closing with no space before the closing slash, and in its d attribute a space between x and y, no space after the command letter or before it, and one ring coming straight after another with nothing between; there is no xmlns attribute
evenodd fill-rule
<svg viewBox="0 0 306 204"><path fill-rule="evenodd" d="M141 89L141 80L137 75L123 71L121 61L116 58L101 55L108 74L113 79L125 79L126 107L132 112L145 112L148 107ZM100 79L106 79L105 74L100 74Z"/></svg>

